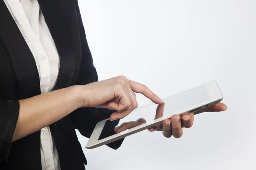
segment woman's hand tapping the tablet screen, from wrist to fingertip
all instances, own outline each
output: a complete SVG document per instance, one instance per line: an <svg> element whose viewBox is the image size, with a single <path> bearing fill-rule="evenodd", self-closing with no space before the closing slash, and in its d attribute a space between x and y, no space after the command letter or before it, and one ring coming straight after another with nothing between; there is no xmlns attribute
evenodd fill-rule
<svg viewBox="0 0 256 170"><path fill-rule="evenodd" d="M131 81L125 76L93 82L81 88L81 107L102 107L117 111L111 114L111 120L122 119L137 108L135 93L143 94L156 104L163 103L163 100L145 85Z"/></svg>

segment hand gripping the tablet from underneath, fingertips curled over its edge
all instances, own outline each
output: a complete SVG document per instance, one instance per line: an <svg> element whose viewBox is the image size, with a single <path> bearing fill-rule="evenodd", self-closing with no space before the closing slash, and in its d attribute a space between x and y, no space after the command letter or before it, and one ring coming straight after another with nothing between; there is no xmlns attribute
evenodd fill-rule
<svg viewBox="0 0 256 170"><path fill-rule="evenodd" d="M163 108L164 104L159 105L157 107L156 117L160 118L163 116ZM216 105L213 105L209 108L202 109L201 111L197 111L195 113L183 113L180 115L173 115L170 119L166 119L163 121L161 125L158 125L156 127L151 127L148 130L150 132L157 131L163 131L163 136L166 138L170 138L174 136L175 138L180 138L183 135L182 128L190 128L193 125L194 122L194 115L203 113L203 112L220 112L220 111L226 111L227 106L223 103L218 103Z"/></svg>

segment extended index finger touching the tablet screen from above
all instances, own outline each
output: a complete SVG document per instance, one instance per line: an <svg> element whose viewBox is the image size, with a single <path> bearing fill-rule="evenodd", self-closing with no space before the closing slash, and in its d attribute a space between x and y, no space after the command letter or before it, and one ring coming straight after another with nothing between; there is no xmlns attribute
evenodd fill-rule
<svg viewBox="0 0 256 170"><path fill-rule="evenodd" d="M154 94L149 88L143 84L140 84L138 82L134 82L129 80L129 85L131 87L131 90L135 93L143 94L148 99L151 99L152 102L156 104L163 104L163 100L160 99L156 94Z"/></svg>

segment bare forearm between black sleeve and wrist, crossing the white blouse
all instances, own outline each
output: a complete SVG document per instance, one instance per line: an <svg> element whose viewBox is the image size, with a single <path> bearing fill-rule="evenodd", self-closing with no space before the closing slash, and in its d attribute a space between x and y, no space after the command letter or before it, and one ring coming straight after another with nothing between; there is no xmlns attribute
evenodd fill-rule
<svg viewBox="0 0 256 170"><path fill-rule="evenodd" d="M79 93L79 86L72 86L20 100L20 112L12 142L75 111L81 106Z"/></svg>

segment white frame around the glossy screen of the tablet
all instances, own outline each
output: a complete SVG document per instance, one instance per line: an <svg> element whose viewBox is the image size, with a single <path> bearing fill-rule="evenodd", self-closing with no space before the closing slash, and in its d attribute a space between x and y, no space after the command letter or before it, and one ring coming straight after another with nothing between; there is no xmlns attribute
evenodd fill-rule
<svg viewBox="0 0 256 170"><path fill-rule="evenodd" d="M218 102L220 102L223 99L223 95L221 94L221 91L220 91L216 81L210 81L210 82L205 83L204 85L200 85L200 86L197 86L195 88L199 88L201 86L206 86L206 88L207 88L207 91L208 91L208 94L209 94L209 100L208 101L205 101L205 102L202 102L202 103L198 103L197 105L191 106L189 108L186 108L184 110L178 111L176 113L172 113L171 115L182 114L182 113L189 113L190 111L200 110L200 109L209 107L211 105L215 105L215 104L217 104ZM191 89L186 90L186 91L190 91L192 89L194 89L194 88L191 88ZM186 92L186 91L183 91L183 92ZM181 93L183 93L183 92L181 92ZM198 95L200 95L200 94L198 94ZM173 96L175 96L175 95L173 95ZM147 107L147 106L148 105L145 105L145 106L137 108L137 109L141 109L141 108L144 108L144 107ZM95 128L93 130L93 133L90 136L89 141L87 142L86 148L93 149L93 148L99 147L101 145L114 142L114 141L122 139L122 138L124 138L126 136L130 136L131 134L140 132L140 131L148 129L150 127L154 127L155 125L159 125L159 123L162 122L164 119L168 119L170 117L171 116L161 117L159 119L155 119L154 122L145 123L145 124L139 125L137 127L133 127L133 128L131 128L129 130L125 130L123 132L116 133L116 134L114 134L112 136L108 136L108 137L106 137L104 139L98 140L99 136L100 136L100 134L102 132L102 129L105 126L105 122L107 120L109 120L109 119L102 120L101 122L98 122L96 124L96 126L95 126Z"/></svg>

